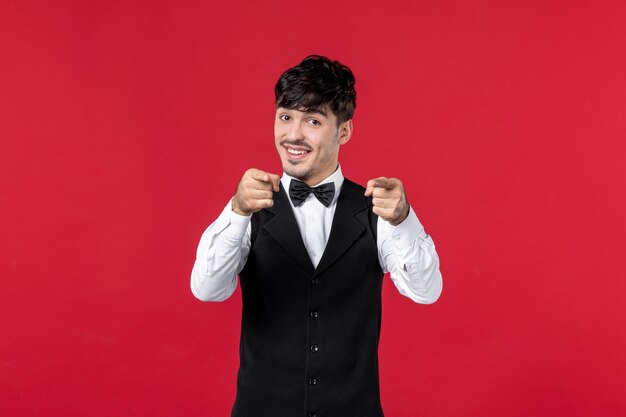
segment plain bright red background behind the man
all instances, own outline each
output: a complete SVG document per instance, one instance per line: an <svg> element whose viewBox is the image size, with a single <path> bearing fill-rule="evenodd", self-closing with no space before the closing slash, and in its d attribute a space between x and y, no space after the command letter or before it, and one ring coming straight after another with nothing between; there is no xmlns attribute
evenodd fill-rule
<svg viewBox="0 0 626 417"><path fill-rule="evenodd" d="M623 4L4 0L0 415L229 414L239 292L189 274L311 53L441 258L435 305L386 281L386 414L626 415Z"/></svg>

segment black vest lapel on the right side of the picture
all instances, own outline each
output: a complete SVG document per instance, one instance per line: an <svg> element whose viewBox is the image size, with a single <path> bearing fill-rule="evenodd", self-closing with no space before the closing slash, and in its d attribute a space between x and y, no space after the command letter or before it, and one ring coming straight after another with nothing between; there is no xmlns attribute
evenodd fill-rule
<svg viewBox="0 0 626 417"><path fill-rule="evenodd" d="M331 266L365 232L365 226L356 219L356 215L364 210L367 210L367 200L361 188L344 179L328 243L315 270L316 274Z"/></svg>

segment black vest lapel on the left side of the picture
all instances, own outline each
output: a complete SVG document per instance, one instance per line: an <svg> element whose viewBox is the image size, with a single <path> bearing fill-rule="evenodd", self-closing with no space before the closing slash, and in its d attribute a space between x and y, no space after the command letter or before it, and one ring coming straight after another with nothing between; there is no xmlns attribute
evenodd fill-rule
<svg viewBox="0 0 626 417"><path fill-rule="evenodd" d="M280 190L274 193L274 206L266 210L274 214L274 217L265 223L263 226L265 230L283 249L312 273L314 271L313 264L304 247L304 240L300 234L296 217L289 203L289 197L283 189L282 183L280 184Z"/></svg>

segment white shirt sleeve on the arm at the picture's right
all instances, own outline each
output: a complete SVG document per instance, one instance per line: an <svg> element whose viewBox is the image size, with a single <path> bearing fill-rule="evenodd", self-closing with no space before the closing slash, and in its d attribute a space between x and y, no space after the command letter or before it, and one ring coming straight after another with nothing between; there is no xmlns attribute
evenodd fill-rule
<svg viewBox="0 0 626 417"><path fill-rule="evenodd" d="M413 208L397 226L378 218L377 234L380 264L400 294L420 304L437 301L443 288L439 257Z"/></svg>

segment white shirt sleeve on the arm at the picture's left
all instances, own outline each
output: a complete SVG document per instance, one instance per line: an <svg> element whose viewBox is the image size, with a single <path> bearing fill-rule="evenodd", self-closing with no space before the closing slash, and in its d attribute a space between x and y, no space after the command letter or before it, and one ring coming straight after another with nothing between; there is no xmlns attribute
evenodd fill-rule
<svg viewBox="0 0 626 417"><path fill-rule="evenodd" d="M231 201L198 244L191 292L202 301L224 301L232 295L250 252L250 216L234 213Z"/></svg>

